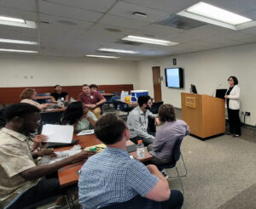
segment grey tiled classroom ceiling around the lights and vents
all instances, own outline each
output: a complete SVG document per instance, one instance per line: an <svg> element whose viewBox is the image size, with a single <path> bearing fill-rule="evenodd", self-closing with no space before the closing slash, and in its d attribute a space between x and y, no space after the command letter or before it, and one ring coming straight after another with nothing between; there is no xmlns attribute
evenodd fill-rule
<svg viewBox="0 0 256 209"><path fill-rule="evenodd" d="M0 38L39 42L38 46L0 42L0 48L39 50L38 55L48 56L83 57L85 54L99 54L119 56L121 60L142 60L256 42L256 27L233 31L217 25L204 24L183 30L159 24L160 20L199 2L196 0L36 1L0 0L0 16L38 22L36 30L0 25ZM256 20L255 0L204 2ZM148 17L134 15L134 12L147 14ZM121 42L120 39L127 35L165 39L179 44L166 47ZM128 49L139 53L103 53L98 52L98 48Z"/></svg>

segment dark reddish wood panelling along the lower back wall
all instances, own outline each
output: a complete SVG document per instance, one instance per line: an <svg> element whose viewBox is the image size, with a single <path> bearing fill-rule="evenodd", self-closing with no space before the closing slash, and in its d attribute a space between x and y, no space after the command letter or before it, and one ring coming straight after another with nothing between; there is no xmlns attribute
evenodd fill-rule
<svg viewBox="0 0 256 209"><path fill-rule="evenodd" d="M53 87L20 87L20 88L0 88L0 104L14 104L20 102L20 93L25 88L34 88L38 93L52 93ZM78 99L79 93L82 91L81 86L61 86L62 91L67 92L69 97ZM99 85L99 90L104 90L106 93L118 92L122 90L133 90L133 84L117 84L117 85Z"/></svg>

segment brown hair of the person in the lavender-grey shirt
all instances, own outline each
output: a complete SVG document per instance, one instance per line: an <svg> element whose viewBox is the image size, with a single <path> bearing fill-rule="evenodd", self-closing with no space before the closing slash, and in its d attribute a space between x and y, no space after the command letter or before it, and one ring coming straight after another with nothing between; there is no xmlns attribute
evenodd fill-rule
<svg viewBox="0 0 256 209"><path fill-rule="evenodd" d="M172 104L162 104L159 108L159 120L163 123L166 121L176 121L176 114Z"/></svg>

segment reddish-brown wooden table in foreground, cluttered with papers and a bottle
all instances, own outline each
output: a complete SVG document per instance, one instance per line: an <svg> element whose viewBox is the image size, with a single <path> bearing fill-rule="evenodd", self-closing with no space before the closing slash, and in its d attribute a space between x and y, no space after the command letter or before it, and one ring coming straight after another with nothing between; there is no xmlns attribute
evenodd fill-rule
<svg viewBox="0 0 256 209"><path fill-rule="evenodd" d="M96 144L102 144L102 142L96 138L95 134L90 135L84 135L84 136L76 136L73 135L73 139L79 139L78 144L84 148L88 146L93 146ZM126 145L133 144L130 140L127 141ZM73 146L67 146L62 148L57 148L55 151L62 151L62 150L69 150ZM130 155L132 155L135 159L137 159L137 152L131 152ZM141 159L140 161L149 161L152 159L152 155L148 153L148 151L145 151L145 158ZM58 171L59 181L61 184L61 187L65 187L72 184L77 184L79 181L79 174L78 171L81 169L81 167L84 165L83 161L68 165L66 167L62 167Z"/></svg>

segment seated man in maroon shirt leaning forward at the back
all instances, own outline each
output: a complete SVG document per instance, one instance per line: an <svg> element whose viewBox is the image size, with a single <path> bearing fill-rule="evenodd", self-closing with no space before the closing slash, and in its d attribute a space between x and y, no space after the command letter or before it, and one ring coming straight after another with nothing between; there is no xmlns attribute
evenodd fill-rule
<svg viewBox="0 0 256 209"><path fill-rule="evenodd" d="M97 119L101 116L100 105L106 102L106 99L102 96L101 93L91 92L90 87L87 84L84 84L82 87L81 93L79 93L79 101L83 102L89 110L91 110Z"/></svg>

